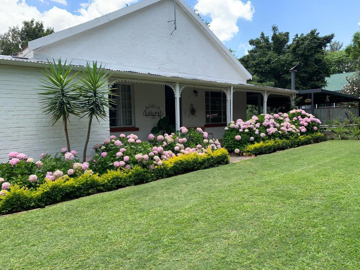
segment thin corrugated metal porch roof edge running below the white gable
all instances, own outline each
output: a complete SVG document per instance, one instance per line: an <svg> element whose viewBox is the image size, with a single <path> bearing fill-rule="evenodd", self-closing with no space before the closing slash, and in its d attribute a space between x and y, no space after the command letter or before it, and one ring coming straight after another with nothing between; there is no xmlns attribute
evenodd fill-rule
<svg viewBox="0 0 360 270"><path fill-rule="evenodd" d="M28 62L28 63L40 63L40 64L47 64L48 62L45 60L40 60L40 59L29 59L29 58L24 58L24 57L14 57L14 56L9 56L9 55L0 55L0 59L2 60L10 60L10 61L17 61L17 62ZM52 63L50 61L50 63ZM80 65L80 64L71 64L74 67L85 67L84 65ZM136 74L143 74L143 75L152 75L152 76L161 76L161 77L168 77L168 78L179 78L179 79L185 79L185 80L194 80L194 81L203 81L203 82L213 82L216 84L231 84L231 85L244 85L244 86L252 86L254 87L255 85L253 84L235 84L235 83L231 83L231 82L221 82L221 81L209 81L209 80L202 80L202 79L198 79L198 78L190 78L190 77L179 77L179 76L168 76L168 75L161 75L161 74L154 74L154 73L143 73L143 72L136 72L136 71L130 71L130 70L122 70L122 69L114 69L114 68L106 68L105 70L108 71L118 71L118 72L127 72L127 73L136 73ZM290 90L290 89L284 89L284 88L278 88L278 87L270 87L270 86L258 86L256 85L256 87L261 87L264 88L264 90L266 89L278 89L278 90L285 90L285 91L289 91L289 92L296 92L294 90Z"/></svg>

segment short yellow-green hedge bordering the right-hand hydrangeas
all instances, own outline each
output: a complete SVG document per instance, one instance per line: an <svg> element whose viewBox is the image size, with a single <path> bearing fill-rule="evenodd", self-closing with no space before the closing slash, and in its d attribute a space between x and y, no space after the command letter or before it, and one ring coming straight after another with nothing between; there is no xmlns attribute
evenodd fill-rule
<svg viewBox="0 0 360 270"><path fill-rule="evenodd" d="M321 141L325 140L325 135L318 132L310 135L302 135L284 140L271 139L267 141L261 141L260 143L247 145L244 148L244 152L247 154L255 155L270 154L279 150L285 150L301 145L320 143Z"/></svg>

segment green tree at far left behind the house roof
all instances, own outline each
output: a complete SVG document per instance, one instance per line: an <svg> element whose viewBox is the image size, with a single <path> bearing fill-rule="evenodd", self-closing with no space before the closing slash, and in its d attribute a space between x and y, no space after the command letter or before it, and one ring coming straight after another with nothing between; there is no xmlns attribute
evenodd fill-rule
<svg viewBox="0 0 360 270"><path fill-rule="evenodd" d="M22 27L13 26L3 34L0 34L0 54L11 55L25 48L29 41L54 33L54 28L44 28L41 21L23 21Z"/></svg>

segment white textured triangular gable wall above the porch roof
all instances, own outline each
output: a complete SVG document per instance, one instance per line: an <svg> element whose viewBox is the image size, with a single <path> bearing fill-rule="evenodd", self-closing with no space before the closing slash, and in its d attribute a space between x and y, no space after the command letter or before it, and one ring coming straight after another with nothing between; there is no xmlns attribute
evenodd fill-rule
<svg viewBox="0 0 360 270"><path fill-rule="evenodd" d="M246 77L213 39L177 6L163 0L84 32L43 46L34 58L98 60L108 68L246 83Z"/></svg>

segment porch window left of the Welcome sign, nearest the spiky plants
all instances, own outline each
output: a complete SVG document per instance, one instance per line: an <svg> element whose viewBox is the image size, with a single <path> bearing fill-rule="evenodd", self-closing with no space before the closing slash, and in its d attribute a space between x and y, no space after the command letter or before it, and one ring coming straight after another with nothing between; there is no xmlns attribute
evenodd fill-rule
<svg viewBox="0 0 360 270"><path fill-rule="evenodd" d="M113 88L111 98L116 104L109 108L110 127L134 126L131 85L114 84Z"/></svg>

